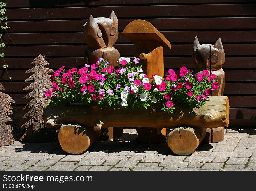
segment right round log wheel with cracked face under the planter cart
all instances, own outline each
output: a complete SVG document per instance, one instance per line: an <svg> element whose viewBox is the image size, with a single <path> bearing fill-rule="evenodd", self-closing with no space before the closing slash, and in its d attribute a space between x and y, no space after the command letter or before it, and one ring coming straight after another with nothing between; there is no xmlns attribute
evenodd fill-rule
<svg viewBox="0 0 256 191"><path fill-rule="evenodd" d="M190 155L202 142L205 128L178 127L167 135L168 147L177 155Z"/></svg>

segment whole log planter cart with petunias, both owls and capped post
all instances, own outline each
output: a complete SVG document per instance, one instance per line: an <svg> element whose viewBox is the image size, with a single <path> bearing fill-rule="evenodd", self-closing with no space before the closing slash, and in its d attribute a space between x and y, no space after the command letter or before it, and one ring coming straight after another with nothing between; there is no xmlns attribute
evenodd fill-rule
<svg viewBox="0 0 256 191"><path fill-rule="evenodd" d="M220 39L214 46L200 47L196 38L197 70L182 67L178 76L172 69L164 74L163 51L171 44L147 21L135 20L123 31L135 44L133 60L120 57L113 48L118 37L113 11L109 18L90 16L83 32L86 64L69 70L62 66L51 75L52 87L45 92L48 100L42 118L47 128L59 130L63 151L85 152L109 127L112 135L122 132L122 127L137 127L139 141L167 141L173 153L190 155L207 128L228 127ZM168 135L166 128L172 129Z"/></svg>

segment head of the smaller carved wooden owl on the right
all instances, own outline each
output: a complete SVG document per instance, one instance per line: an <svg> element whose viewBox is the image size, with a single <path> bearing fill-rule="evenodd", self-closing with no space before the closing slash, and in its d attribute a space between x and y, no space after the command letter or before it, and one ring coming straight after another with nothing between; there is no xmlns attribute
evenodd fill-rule
<svg viewBox="0 0 256 191"><path fill-rule="evenodd" d="M211 54L210 47L211 46ZM197 71L210 70L210 59L211 59L211 70L219 70L225 62L225 53L219 38L216 43L211 44L199 44L198 38L195 37L192 51L192 60L195 64Z"/></svg>

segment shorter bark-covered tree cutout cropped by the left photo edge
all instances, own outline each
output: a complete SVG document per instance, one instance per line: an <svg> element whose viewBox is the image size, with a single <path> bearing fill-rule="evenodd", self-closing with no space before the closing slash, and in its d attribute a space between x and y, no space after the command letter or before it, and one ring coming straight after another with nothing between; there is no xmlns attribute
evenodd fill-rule
<svg viewBox="0 0 256 191"><path fill-rule="evenodd" d="M0 90L4 90L3 85L0 83ZM15 103L8 95L0 91L0 147L13 144L15 142L11 131L13 128L7 125L7 122L12 121L8 115L12 114L11 104Z"/></svg>

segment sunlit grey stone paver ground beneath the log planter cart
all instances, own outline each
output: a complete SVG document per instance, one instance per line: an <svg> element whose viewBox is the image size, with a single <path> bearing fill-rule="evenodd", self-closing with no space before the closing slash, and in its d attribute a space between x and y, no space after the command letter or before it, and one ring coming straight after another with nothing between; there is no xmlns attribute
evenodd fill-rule
<svg viewBox="0 0 256 191"><path fill-rule="evenodd" d="M0 170L256 170L256 129L230 127L219 143L201 144L190 156L177 156L166 143L144 144L136 129L117 140L97 141L83 154L69 155L58 142L0 147Z"/></svg>

